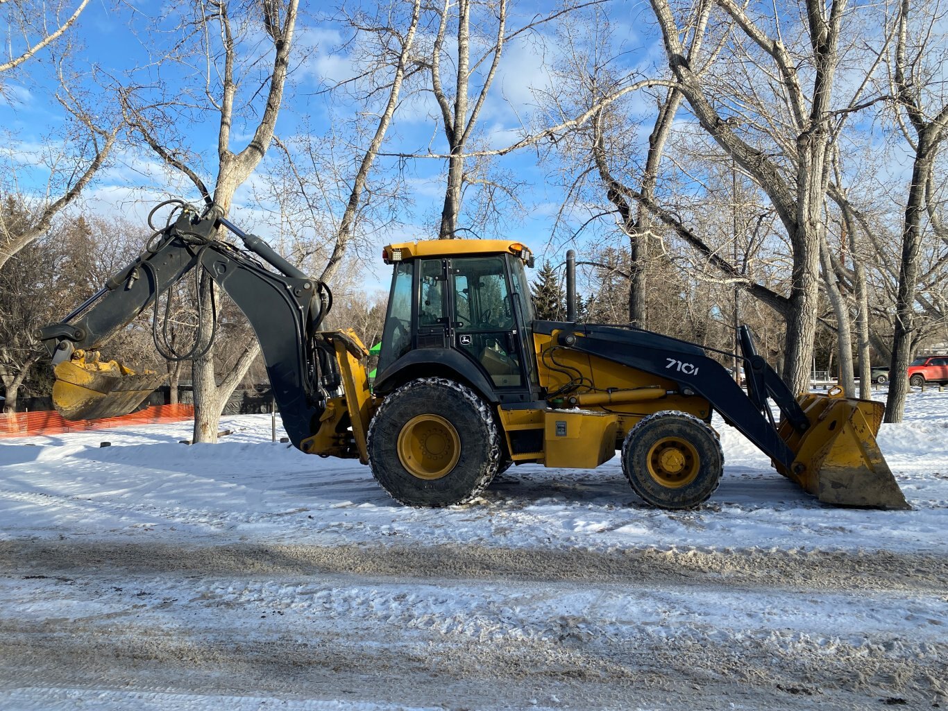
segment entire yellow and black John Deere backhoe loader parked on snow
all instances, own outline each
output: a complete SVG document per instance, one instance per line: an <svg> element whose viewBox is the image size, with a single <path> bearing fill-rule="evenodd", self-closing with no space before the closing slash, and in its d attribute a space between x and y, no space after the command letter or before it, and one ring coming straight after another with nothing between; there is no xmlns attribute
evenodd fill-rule
<svg viewBox="0 0 948 711"><path fill-rule="evenodd" d="M475 499L511 464L593 468L621 449L645 501L687 508L718 487L713 412L775 468L833 504L908 508L875 435L883 406L830 393L798 398L740 329L746 392L705 349L623 325L534 318L530 250L505 240L385 247L392 290L370 392L351 330L321 331L324 283L259 237L181 204L133 264L61 323L39 330L69 419L131 411L157 379L103 364L101 345L191 271L205 269L243 310L294 446L357 458L397 501ZM228 229L244 247L226 242ZM155 329L158 328L155 310ZM774 407L779 412L775 419Z"/></svg>

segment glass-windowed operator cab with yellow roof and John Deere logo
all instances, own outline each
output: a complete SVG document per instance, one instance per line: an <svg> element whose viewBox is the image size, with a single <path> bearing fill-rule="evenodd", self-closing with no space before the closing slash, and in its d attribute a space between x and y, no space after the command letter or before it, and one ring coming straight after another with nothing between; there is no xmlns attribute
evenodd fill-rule
<svg viewBox="0 0 948 711"><path fill-rule="evenodd" d="M524 270L533 255L526 246L430 240L387 246L383 259L394 271L376 384L384 388L391 374L417 361L482 383L482 390L492 391L483 394L495 402L536 399L534 312ZM419 350L423 359L410 357Z"/></svg>

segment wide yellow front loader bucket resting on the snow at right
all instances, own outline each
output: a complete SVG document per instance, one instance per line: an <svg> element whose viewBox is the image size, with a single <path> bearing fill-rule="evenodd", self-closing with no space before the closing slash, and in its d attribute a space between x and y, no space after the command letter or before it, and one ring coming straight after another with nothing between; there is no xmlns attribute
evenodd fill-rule
<svg viewBox="0 0 948 711"><path fill-rule="evenodd" d="M777 471L820 501L910 509L876 444L884 405L842 395L835 389L799 398L810 428L800 433L788 421L780 424L780 436L796 456L790 470L776 465Z"/></svg>

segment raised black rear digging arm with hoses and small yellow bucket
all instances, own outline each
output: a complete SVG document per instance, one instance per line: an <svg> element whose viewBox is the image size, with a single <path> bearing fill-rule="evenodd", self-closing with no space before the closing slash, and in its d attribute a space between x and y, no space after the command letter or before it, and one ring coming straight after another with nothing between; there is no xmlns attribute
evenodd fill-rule
<svg viewBox="0 0 948 711"><path fill-rule="evenodd" d="M248 251L216 238L221 227L241 237ZM64 416L124 414L157 387L154 375L133 374L124 367L121 373L100 375L84 363L68 366L76 353L97 351L194 268L205 269L246 315L260 341L283 426L300 447L319 429L327 395L342 385L331 335L319 333L331 294L325 284L307 277L259 237L213 214L203 218L182 214L91 299L62 322L37 331L53 358L57 380L76 381L62 383L79 393L76 407Z"/></svg>

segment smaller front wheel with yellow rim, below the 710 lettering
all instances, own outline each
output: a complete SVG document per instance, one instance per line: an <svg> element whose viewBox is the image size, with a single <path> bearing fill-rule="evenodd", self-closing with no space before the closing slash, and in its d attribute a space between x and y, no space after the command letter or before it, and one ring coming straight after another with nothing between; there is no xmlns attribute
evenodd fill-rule
<svg viewBox="0 0 948 711"><path fill-rule="evenodd" d="M715 431L686 412L656 412L629 430L622 471L653 506L692 508L718 488L724 454Z"/></svg>

